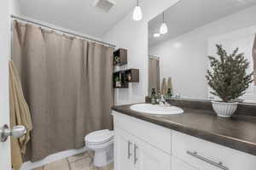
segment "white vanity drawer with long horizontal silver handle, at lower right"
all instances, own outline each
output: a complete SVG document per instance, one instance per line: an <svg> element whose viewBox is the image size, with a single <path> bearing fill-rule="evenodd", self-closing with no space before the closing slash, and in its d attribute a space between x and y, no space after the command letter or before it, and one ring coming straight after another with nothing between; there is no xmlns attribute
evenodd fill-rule
<svg viewBox="0 0 256 170"><path fill-rule="evenodd" d="M172 156L200 170L255 170L256 156L172 131ZM222 162L222 164L219 164Z"/></svg>

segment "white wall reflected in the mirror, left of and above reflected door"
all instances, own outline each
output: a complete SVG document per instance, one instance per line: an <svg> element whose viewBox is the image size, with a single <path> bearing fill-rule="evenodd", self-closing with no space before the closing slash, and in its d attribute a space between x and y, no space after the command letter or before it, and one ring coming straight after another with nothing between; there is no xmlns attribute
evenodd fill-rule
<svg viewBox="0 0 256 170"><path fill-rule="evenodd" d="M149 48L160 57L161 77L172 77L174 93L192 99L207 99L207 41L211 37L256 24L256 7L189 31Z"/></svg>

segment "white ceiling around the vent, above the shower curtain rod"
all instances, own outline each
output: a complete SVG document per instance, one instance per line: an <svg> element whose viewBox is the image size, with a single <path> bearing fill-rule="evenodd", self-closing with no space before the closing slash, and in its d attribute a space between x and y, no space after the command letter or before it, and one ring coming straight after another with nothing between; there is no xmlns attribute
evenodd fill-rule
<svg viewBox="0 0 256 170"><path fill-rule="evenodd" d="M136 0L112 0L108 13L95 8L94 0L15 0L21 15L73 31L102 37L136 6Z"/></svg>

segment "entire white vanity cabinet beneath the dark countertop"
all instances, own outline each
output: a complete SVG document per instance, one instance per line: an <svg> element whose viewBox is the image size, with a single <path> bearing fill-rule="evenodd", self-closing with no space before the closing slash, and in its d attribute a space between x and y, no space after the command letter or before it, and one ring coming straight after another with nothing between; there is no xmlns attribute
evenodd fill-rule
<svg viewBox="0 0 256 170"><path fill-rule="evenodd" d="M256 156L113 111L114 170L255 170Z"/></svg>

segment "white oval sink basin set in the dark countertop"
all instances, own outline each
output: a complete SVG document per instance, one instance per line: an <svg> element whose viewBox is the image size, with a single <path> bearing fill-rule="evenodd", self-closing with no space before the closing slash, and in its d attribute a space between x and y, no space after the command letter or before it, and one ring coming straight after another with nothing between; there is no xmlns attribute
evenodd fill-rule
<svg viewBox="0 0 256 170"><path fill-rule="evenodd" d="M184 111L176 106L165 106L165 105L151 105L151 104L137 104L131 105L133 111L139 111L143 113L153 115L175 115L182 114Z"/></svg>

